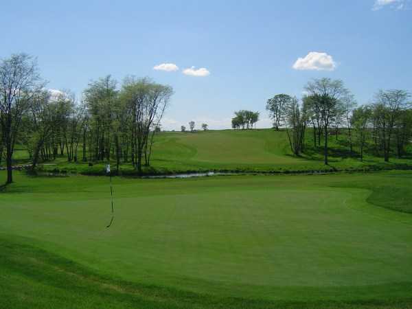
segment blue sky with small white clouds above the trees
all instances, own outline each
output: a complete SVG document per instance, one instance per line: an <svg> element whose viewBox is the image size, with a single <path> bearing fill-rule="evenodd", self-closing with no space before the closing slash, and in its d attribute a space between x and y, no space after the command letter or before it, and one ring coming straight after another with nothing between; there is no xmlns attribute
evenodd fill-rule
<svg viewBox="0 0 412 309"><path fill-rule="evenodd" d="M412 0L0 0L0 57L38 58L49 89L150 77L174 89L163 128L229 128L233 112L341 79L358 104L412 92Z"/></svg>

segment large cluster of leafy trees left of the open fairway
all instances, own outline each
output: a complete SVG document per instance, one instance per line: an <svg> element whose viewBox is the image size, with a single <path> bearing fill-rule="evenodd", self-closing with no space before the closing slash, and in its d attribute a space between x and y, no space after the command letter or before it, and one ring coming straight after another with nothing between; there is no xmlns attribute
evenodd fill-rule
<svg viewBox="0 0 412 309"><path fill-rule="evenodd" d="M35 168L39 161L122 161L138 172L150 165L172 87L128 76L119 86L111 76L89 83L82 100L71 91L49 91L36 59L13 54L0 62L0 163L12 182L12 155L19 142ZM118 87L119 86L119 87ZM81 150L81 157L78 157Z"/></svg>

